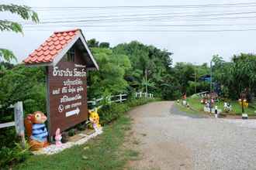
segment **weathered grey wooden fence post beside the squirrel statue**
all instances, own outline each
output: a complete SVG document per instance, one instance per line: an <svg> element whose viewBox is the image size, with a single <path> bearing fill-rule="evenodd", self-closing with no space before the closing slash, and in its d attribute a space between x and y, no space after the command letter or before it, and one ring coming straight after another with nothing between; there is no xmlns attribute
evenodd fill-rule
<svg viewBox="0 0 256 170"><path fill-rule="evenodd" d="M14 120L15 120L16 134L18 134L21 138L22 148L25 148L23 106L21 101L18 101L14 105Z"/></svg>

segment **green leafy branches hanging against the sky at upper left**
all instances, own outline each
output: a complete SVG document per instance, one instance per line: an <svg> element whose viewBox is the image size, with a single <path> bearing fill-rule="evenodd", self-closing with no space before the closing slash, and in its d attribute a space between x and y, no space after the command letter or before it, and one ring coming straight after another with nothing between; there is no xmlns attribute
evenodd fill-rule
<svg viewBox="0 0 256 170"><path fill-rule="evenodd" d="M12 14L19 15L22 19L32 20L33 22L39 22L36 12L26 5L0 5L0 12L11 12ZM7 19L0 20L1 31L12 31L22 33L22 26L18 22L12 22ZM0 59L10 61L16 59L16 56L9 49L0 48Z"/></svg>

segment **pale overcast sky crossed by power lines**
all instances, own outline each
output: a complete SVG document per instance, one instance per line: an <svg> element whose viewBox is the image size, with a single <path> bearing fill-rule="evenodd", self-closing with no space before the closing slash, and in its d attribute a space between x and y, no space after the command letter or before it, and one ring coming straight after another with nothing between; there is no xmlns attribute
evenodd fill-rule
<svg viewBox="0 0 256 170"><path fill-rule="evenodd" d="M0 3L29 5L40 18L40 23L34 24L9 12L0 12L0 20L22 23L23 35L0 32L0 48L11 49L19 62L54 31L76 28L82 30L86 39L110 42L111 46L137 40L167 49L174 53L174 63L209 63L216 54L228 61L234 54L256 53L256 2L250 4L253 3L250 0L2 0Z"/></svg>

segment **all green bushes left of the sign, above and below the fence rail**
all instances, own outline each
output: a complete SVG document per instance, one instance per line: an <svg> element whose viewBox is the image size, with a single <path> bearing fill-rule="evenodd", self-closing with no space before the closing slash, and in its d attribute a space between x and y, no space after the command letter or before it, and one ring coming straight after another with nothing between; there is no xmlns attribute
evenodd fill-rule
<svg viewBox="0 0 256 170"><path fill-rule="evenodd" d="M9 66L7 69L5 66ZM0 122L13 121L13 108L10 104L17 101L23 102L25 114L32 113L36 110L46 110L46 87L43 68L26 68L17 65L2 63L0 68ZM28 152L22 150L16 142L15 128L1 129L0 133L0 158L2 165L12 162L19 162L26 158ZM2 167L2 165L0 165Z"/></svg>

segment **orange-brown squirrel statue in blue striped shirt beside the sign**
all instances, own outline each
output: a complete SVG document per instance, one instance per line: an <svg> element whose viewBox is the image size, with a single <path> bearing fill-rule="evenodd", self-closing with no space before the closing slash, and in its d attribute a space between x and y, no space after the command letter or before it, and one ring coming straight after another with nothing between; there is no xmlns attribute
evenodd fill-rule
<svg viewBox="0 0 256 170"><path fill-rule="evenodd" d="M37 151L49 145L47 141L47 128L44 122L47 117L41 112L36 111L33 114L28 114L25 118L26 133L29 137L30 150Z"/></svg>

